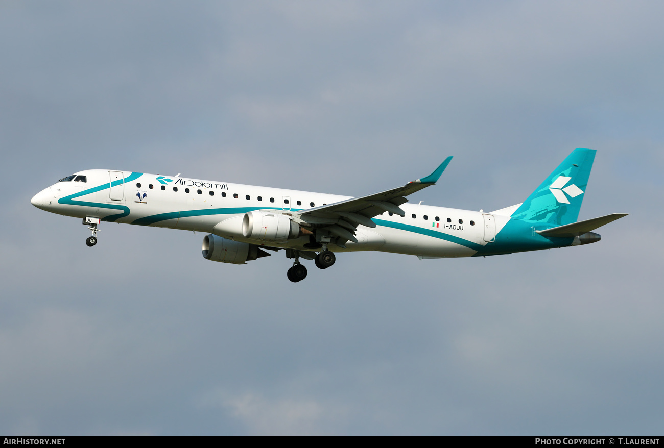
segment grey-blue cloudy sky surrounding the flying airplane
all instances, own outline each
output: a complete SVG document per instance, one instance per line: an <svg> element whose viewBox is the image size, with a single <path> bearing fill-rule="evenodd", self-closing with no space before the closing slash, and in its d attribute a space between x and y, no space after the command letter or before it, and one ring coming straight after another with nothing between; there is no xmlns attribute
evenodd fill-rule
<svg viewBox="0 0 664 448"><path fill-rule="evenodd" d="M659 2L0 2L0 433L653 434L664 421ZM597 149L591 246L201 256L30 198L83 169L522 202Z"/></svg>

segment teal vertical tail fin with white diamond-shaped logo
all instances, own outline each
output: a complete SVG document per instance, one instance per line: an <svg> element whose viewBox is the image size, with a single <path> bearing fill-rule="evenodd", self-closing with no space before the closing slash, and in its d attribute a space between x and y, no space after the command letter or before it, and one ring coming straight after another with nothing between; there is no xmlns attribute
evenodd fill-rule
<svg viewBox="0 0 664 448"><path fill-rule="evenodd" d="M517 208L512 218L552 226L576 222L595 152L594 149L574 149Z"/></svg>

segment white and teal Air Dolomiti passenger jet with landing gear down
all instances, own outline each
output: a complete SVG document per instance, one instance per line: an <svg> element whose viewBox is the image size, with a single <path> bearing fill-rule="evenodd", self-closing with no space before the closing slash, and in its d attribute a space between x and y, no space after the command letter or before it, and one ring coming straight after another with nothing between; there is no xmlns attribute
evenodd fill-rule
<svg viewBox="0 0 664 448"><path fill-rule="evenodd" d="M598 242L592 232L627 213L576 222L594 149L577 148L521 204L484 212L406 204L436 184L433 173L367 196L337 196L187 177L94 169L64 177L35 194L33 205L82 218L97 244L100 222L208 232L203 257L246 264L285 250L290 281L307 276L300 259L320 269L335 253L376 250L420 260L492 256Z"/></svg>

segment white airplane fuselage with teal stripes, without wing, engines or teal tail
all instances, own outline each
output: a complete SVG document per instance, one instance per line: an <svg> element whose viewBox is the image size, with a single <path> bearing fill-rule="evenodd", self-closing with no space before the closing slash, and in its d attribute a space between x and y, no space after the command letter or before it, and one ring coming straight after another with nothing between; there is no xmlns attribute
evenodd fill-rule
<svg viewBox="0 0 664 448"><path fill-rule="evenodd" d="M84 177L84 178L83 178ZM85 182L75 179L84 179ZM242 236L242 217L252 210L289 214L349 196L281 188L201 181L127 171L80 171L35 195L35 206L77 218L100 218L125 224L210 232L238 242L274 248L307 250L309 239L286 242L251 240ZM358 242L333 252L379 250L422 258L473 256L495 240L509 214L402 204L405 216L384 212L373 218L375 228L359 226Z"/></svg>

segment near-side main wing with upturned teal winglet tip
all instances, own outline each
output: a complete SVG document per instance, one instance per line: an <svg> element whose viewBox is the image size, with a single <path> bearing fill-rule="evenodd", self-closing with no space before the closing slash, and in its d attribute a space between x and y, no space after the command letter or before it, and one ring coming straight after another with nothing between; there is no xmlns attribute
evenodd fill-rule
<svg viewBox="0 0 664 448"><path fill-rule="evenodd" d="M399 206L408 202L406 196L436 184L451 160L452 156L445 159L430 175L409 182L402 187L300 210L293 213L293 216L301 221L302 226L318 228L345 241L350 240L357 243L357 238L355 238L357 226L376 227L371 218L384 212L404 216L405 212ZM339 241L337 245L343 246L343 242Z"/></svg>

